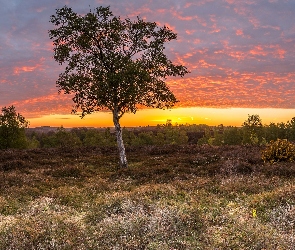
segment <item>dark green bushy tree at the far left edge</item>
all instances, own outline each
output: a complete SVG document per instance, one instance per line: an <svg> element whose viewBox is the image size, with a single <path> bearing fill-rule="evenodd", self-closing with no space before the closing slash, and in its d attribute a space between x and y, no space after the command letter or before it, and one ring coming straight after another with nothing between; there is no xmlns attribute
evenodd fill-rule
<svg viewBox="0 0 295 250"><path fill-rule="evenodd" d="M14 106L3 107L0 113L0 149L26 148L25 128L29 122Z"/></svg>

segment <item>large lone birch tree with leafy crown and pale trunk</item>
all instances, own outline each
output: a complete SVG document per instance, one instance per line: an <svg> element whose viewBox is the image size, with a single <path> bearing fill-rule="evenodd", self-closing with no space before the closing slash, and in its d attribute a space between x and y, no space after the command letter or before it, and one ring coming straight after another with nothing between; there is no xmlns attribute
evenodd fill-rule
<svg viewBox="0 0 295 250"><path fill-rule="evenodd" d="M172 107L177 100L165 80L188 73L164 54L164 43L176 34L139 17L122 20L109 7L81 16L65 6L50 21L57 26L49 30L54 59L68 62L57 80L59 91L74 94L73 112L82 110L82 117L103 109L112 112L120 166L127 167L120 118L139 106Z"/></svg>

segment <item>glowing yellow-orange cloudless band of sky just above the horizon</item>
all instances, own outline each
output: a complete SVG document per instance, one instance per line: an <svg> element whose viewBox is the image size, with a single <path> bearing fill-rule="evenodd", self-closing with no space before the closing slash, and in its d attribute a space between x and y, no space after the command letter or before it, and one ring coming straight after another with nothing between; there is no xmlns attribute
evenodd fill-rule
<svg viewBox="0 0 295 250"><path fill-rule="evenodd" d="M277 115L274 116L273 114ZM142 109L136 114L124 114L122 127L156 126L171 120L172 124L206 124L209 126L240 127L247 120L248 114L258 114L263 124L290 121L295 114L292 109L246 109L246 108L174 108L170 110ZM78 115L54 114L28 119L30 127L113 127L110 112L97 112L81 119Z"/></svg>

